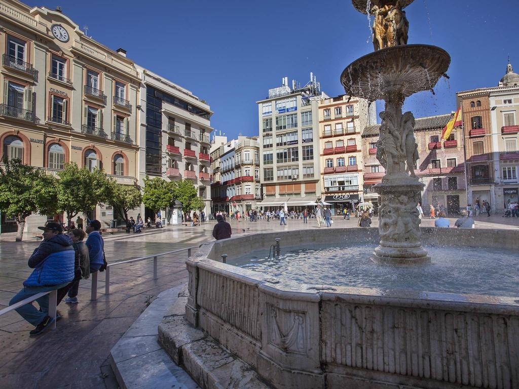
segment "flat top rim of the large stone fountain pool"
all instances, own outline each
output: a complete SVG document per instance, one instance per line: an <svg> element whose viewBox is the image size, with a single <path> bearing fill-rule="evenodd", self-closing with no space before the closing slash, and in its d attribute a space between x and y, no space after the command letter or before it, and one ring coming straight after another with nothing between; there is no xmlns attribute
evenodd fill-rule
<svg viewBox="0 0 519 389"><path fill-rule="evenodd" d="M356 228L365 230L365 228ZM369 228L374 231L376 227ZM339 231L351 231L352 228L336 229ZM433 227L422 228L424 230L438 230ZM461 232L457 229L449 229ZM507 231L511 230L500 230ZM474 230L471 230L474 232ZM477 230L476 230L477 231ZM485 230L480 230L485 232ZM272 239L280 235L290 234L296 231L284 232L266 232L264 235L272 235ZM473 310L477 308L480 312L483 310L488 313L499 314L519 314L519 297L509 296L489 296L489 295L471 295L471 294L456 294L456 293L442 293L432 291L413 291L407 289L390 289L382 290L380 288L363 288L363 287L349 287L336 285L322 285L322 284L306 284L296 283L290 281L282 281L275 277L267 276L262 273L254 272L252 270L239 268L226 263L218 262L209 258L215 245L226 245L228 242L236 242L242 239L250 238L258 234L241 235L240 237L224 239L210 243L204 243L200 246L199 251L195 257L187 259L186 263L192 266L197 266L201 269L216 271L223 276L230 277L245 284L254 285L269 291L270 294L277 295L284 299L304 299L314 301L322 298L327 300L345 299L359 301L365 300L366 303L373 303L378 305L403 304L409 307L431 308L431 304L441 309L449 309L456 311ZM461 240L462 241L462 240ZM292 245L285 247L298 247L301 245Z"/></svg>

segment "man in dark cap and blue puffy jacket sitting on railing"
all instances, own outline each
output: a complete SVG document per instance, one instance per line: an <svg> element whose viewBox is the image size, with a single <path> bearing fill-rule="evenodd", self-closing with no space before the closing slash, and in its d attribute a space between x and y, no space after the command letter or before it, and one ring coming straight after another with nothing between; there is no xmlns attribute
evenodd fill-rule
<svg viewBox="0 0 519 389"><path fill-rule="evenodd" d="M74 279L74 247L68 235L62 234L61 224L49 222L45 227L38 228L43 230L43 241L34 249L28 263L34 270L23 282L23 289L9 301L9 305L44 291L62 288ZM42 334L55 320L48 315L49 295L36 301L40 310L31 303L16 309L26 321L36 327L30 332L30 336Z"/></svg>

